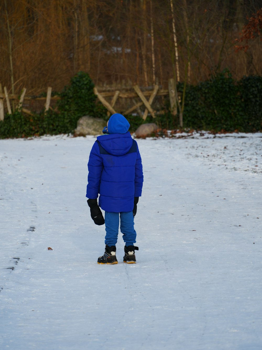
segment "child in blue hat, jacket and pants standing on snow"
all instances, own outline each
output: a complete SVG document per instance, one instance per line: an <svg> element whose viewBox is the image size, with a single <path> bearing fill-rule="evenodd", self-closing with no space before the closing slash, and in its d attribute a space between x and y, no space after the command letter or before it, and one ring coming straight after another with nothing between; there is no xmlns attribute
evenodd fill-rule
<svg viewBox="0 0 262 350"><path fill-rule="evenodd" d="M137 142L132 139L129 127L122 114L113 114L103 130L105 135L97 137L89 156L87 203L95 224L105 224L106 231L105 252L98 258L98 264L117 264L119 215L125 242L124 262L136 263L134 216L142 192L143 169ZM105 211L105 218L99 207Z"/></svg>

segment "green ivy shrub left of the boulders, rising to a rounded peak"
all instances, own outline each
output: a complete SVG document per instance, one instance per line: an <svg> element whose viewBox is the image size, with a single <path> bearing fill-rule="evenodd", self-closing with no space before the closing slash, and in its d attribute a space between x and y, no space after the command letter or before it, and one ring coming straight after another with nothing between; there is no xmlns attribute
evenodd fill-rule
<svg viewBox="0 0 262 350"><path fill-rule="evenodd" d="M69 134L75 130L77 121L82 116L105 118L106 109L96 103L93 87L88 73L77 73L58 94L61 98L57 103L59 112L43 110L39 114L28 116L16 110L0 122L0 138Z"/></svg>

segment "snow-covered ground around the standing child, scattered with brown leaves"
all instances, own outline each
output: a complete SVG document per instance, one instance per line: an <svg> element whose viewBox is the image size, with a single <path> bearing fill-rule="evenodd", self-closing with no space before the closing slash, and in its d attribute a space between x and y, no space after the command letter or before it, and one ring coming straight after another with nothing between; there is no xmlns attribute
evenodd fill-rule
<svg viewBox="0 0 262 350"><path fill-rule="evenodd" d="M0 349L261 350L262 134L137 140L135 265L96 262L94 141L0 140Z"/></svg>

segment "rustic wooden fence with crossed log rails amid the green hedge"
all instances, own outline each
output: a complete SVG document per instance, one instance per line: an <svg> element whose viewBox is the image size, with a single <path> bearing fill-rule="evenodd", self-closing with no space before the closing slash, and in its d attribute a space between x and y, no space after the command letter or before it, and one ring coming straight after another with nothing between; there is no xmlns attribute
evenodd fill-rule
<svg viewBox="0 0 262 350"><path fill-rule="evenodd" d="M43 100L45 101L44 108L45 111L48 111L50 108L51 100L60 99L59 96L51 96L52 87L48 87L46 97L33 97L26 96L26 88L22 90L21 95L8 94L6 86L2 91L2 85L0 84L0 120L4 120L4 102L6 104L6 109L9 114L12 114L10 101L13 103L13 109L21 109L22 112L32 115L32 112L26 108L23 108L23 103L26 100ZM142 91L144 90L144 91ZM156 112L152 108L153 100L156 96L169 96L170 106L172 107L172 112L176 115L176 98L175 98L175 83L174 79L169 79L168 81L168 90L159 89L158 85L155 85L152 91L147 91L145 89L140 89L138 85L134 85L131 91L98 91L97 87L94 87L94 94L100 100L100 102L106 107L108 110L108 115L114 113L122 113L124 116L132 113L137 110L140 117L146 120L148 113L151 114L153 118L156 117ZM111 101L108 102L108 98L111 98ZM135 98L139 98L139 102L135 100ZM148 98L148 99L147 99ZM124 111L116 111L115 104L117 99L131 99L133 102L133 106L128 110ZM143 114L141 113L140 107L145 107Z"/></svg>

